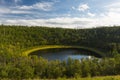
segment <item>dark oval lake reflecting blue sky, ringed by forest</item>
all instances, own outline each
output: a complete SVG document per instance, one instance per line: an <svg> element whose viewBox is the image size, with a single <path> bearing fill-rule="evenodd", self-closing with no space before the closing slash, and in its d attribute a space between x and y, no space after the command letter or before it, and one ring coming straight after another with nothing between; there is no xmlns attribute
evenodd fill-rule
<svg viewBox="0 0 120 80"><path fill-rule="evenodd" d="M61 60L61 61L67 60L68 58L82 59L82 58L90 58L91 56L96 56L92 52L81 49L72 49L72 48L44 49L44 50L38 50L32 52L29 55L37 55L48 60Z"/></svg>

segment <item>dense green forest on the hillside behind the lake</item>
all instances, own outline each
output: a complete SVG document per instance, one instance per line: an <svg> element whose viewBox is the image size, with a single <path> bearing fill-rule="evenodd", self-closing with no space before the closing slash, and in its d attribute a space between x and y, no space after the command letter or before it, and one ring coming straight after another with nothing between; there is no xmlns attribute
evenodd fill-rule
<svg viewBox="0 0 120 80"><path fill-rule="evenodd" d="M0 44L1 52L12 54L40 45L77 45L113 57L120 53L120 27L63 29L1 25Z"/></svg>

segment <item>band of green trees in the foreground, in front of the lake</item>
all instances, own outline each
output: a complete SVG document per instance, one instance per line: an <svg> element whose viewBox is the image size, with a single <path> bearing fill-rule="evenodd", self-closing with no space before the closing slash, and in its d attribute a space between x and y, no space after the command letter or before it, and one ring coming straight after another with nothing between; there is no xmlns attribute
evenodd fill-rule
<svg viewBox="0 0 120 80"><path fill-rule="evenodd" d="M37 56L0 54L0 78L57 79L120 75L120 56L48 61Z"/></svg>

